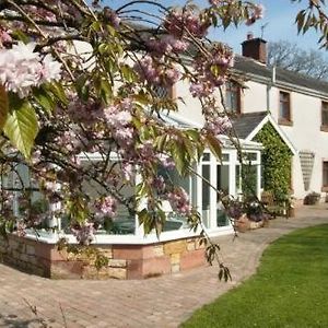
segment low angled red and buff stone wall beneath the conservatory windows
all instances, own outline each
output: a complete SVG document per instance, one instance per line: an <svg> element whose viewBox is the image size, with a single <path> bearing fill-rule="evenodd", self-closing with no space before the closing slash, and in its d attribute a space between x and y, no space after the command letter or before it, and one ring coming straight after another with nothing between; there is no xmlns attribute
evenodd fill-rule
<svg viewBox="0 0 328 328"><path fill-rule="evenodd" d="M52 279L144 279L203 266L198 237L151 245L97 245L108 266L96 270L57 245L10 235L0 237L0 260L25 272Z"/></svg>

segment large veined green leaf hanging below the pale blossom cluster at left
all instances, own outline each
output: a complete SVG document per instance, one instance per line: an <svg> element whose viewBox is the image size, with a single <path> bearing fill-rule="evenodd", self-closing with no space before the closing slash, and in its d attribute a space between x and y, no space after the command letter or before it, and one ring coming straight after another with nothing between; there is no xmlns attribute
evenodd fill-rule
<svg viewBox="0 0 328 328"><path fill-rule="evenodd" d="M8 114L3 132L11 143L28 159L38 132L37 117L28 102L21 102L19 108Z"/></svg>

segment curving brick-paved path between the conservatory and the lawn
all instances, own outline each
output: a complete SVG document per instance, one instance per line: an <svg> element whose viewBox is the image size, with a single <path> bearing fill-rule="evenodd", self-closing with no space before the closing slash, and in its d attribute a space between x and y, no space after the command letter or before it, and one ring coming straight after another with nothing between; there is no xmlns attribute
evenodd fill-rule
<svg viewBox="0 0 328 328"><path fill-rule="evenodd" d="M229 283L218 281L214 267L139 281L54 281L0 265L0 327L177 327L253 274L270 242L298 227L328 223L328 204L298 212L297 218L277 219L268 229L235 241L220 238L233 276Z"/></svg>

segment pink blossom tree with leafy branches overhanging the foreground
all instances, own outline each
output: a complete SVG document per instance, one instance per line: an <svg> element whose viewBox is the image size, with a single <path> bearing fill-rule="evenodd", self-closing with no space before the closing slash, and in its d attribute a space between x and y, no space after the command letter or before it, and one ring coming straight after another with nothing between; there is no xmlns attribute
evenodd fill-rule
<svg viewBox="0 0 328 328"><path fill-rule="evenodd" d="M152 0L115 9L97 0L2 0L1 232L24 235L51 212L66 215L78 242L89 244L125 206L145 233L159 234L164 200L197 227L200 216L186 191L160 171L192 174L206 148L220 157L218 136L230 133L231 122L215 91L229 79L234 55L207 35L261 16L261 5L237 0L210 0L204 9ZM157 91L179 81L199 101L200 129L164 119L183 99ZM28 167L28 183L20 165ZM124 192L129 186L131 196ZM33 207L34 190L45 195L47 215ZM14 191L23 215L11 209Z"/></svg>

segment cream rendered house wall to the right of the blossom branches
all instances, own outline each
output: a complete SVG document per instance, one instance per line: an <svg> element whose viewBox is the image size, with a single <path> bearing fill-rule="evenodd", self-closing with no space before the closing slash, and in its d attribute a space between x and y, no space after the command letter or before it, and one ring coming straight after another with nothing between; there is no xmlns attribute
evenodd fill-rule
<svg viewBox="0 0 328 328"><path fill-rule="evenodd" d="M269 106L270 114L279 124L279 92L290 93L291 125L279 124L297 151L292 163L292 189L294 197L303 199L308 192L323 192L323 161L328 159L328 132L321 131L321 102L328 99L314 93L305 94L294 87L271 85L267 91L265 82L249 81L244 96L244 112L263 112ZM305 190L298 153L314 153L314 166L309 188Z"/></svg>

